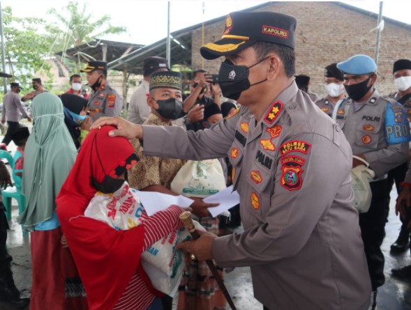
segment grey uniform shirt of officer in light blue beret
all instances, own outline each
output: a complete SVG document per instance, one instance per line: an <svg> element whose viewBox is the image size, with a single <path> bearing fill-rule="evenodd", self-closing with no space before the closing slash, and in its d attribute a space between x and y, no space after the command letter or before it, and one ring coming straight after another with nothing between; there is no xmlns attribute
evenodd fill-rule
<svg viewBox="0 0 411 310"><path fill-rule="evenodd" d="M408 143L387 144L385 139L387 100L374 91L368 101L355 111L354 101L348 98L339 107L336 118L352 153L364 154L377 178L408 160ZM391 102L396 103L394 100Z"/></svg>

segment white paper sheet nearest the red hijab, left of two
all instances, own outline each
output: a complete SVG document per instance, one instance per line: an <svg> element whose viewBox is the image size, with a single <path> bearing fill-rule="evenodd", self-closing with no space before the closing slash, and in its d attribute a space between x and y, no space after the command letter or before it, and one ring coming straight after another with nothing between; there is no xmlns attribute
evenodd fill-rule
<svg viewBox="0 0 411 310"><path fill-rule="evenodd" d="M147 215L151 217L154 213L165 210L171 205L176 205L181 208L187 208L193 203L193 199L189 199L184 196L172 196L169 194L163 194L159 192L141 192L137 191L140 201L146 210Z"/></svg>

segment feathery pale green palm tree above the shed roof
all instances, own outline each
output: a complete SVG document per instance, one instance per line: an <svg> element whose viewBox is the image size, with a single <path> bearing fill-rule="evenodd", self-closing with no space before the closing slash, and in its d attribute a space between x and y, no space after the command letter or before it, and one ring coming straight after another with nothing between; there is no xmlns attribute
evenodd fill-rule
<svg viewBox="0 0 411 310"><path fill-rule="evenodd" d="M87 8L90 7L87 2L80 7L80 3L70 1L61 10L55 8L48 10L50 15L56 17L56 21L46 27L47 31L56 38L55 52L82 45L107 34L118 34L126 31L125 27L112 26L110 15L106 14L98 20L93 20L93 13L87 12Z"/></svg>

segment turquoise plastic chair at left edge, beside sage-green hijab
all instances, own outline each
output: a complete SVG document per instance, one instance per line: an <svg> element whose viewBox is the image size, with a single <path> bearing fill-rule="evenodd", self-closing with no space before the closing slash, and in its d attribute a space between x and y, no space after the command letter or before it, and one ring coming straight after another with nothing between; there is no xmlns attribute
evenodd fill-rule
<svg viewBox="0 0 411 310"><path fill-rule="evenodd" d="M13 175L13 180L16 178L14 176L14 160L13 157L8 153L6 150L0 150L0 158L4 158L7 160L8 164L12 167L12 175ZM20 178L17 176L17 178ZM15 182L15 180L14 180ZM20 182L17 181L18 184L21 184L21 179ZM8 220L11 219L11 199L15 199L17 201L17 205L19 207L19 215L24 212L26 209L26 196L22 194L22 189L20 187L16 186L16 182L13 184L13 186L8 186L6 189L1 189L1 196L3 196L3 204L6 207L6 218ZM27 235L27 231L24 229L22 225L22 231L23 235Z"/></svg>

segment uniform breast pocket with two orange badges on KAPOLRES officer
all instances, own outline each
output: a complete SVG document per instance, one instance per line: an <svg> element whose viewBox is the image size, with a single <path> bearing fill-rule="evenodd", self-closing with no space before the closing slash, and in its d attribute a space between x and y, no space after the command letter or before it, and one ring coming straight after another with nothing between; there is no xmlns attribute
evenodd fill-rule
<svg viewBox="0 0 411 310"><path fill-rule="evenodd" d="M256 217L264 217L271 206L271 187L274 184L274 176L271 175L271 171L262 169L257 163L254 163L247 173L248 175L244 177L251 190L251 200L247 208Z"/></svg>

